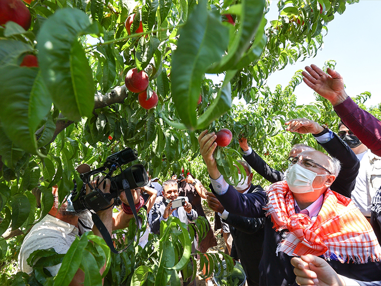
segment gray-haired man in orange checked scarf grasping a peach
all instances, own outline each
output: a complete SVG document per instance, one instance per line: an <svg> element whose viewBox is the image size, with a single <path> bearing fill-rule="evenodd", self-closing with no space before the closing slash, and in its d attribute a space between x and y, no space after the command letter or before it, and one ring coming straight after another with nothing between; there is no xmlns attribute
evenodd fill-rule
<svg viewBox="0 0 381 286"><path fill-rule="evenodd" d="M322 255L341 275L373 280L377 271L360 269L370 269L381 259L381 247L354 203L330 190L340 171L336 159L304 151L292 159L286 180L266 192L241 194L217 168L216 138L207 130L198 137L215 196L229 213L265 218L259 285L293 285L291 257L305 254Z"/></svg>

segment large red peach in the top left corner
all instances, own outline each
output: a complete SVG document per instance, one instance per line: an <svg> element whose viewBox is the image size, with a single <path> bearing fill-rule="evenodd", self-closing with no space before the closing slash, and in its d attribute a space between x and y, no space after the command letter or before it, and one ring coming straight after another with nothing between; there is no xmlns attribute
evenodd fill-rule
<svg viewBox="0 0 381 286"><path fill-rule="evenodd" d="M31 12L21 0L0 0L0 26L12 21L25 30L31 27Z"/></svg>

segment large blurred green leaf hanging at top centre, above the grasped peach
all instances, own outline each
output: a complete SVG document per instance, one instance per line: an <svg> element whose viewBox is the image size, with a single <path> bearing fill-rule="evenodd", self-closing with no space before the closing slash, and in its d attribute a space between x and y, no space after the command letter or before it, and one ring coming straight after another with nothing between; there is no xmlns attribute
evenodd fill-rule
<svg viewBox="0 0 381 286"><path fill-rule="evenodd" d="M210 64L222 59L228 44L228 28L208 13L207 1L200 1L181 28L172 56L171 94L182 122L197 126L196 106L202 77Z"/></svg>

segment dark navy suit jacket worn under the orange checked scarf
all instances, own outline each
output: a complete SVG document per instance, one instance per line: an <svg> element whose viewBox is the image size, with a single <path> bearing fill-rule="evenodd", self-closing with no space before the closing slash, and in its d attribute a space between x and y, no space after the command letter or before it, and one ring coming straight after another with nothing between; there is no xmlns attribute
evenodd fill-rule
<svg viewBox="0 0 381 286"><path fill-rule="evenodd" d="M216 194L216 193L215 193ZM216 194L226 211L232 214L251 217L265 218L263 207L267 204L267 195L258 190L252 193L241 194L232 186L229 186L223 195ZM273 229L273 222L266 217L264 222L263 253L259 263L260 285L296 285L295 274L291 265L291 256L283 252L276 254L278 243L281 241L281 232ZM337 273L363 281L381 280L380 263L368 262L366 264L340 263L339 261L327 261Z"/></svg>

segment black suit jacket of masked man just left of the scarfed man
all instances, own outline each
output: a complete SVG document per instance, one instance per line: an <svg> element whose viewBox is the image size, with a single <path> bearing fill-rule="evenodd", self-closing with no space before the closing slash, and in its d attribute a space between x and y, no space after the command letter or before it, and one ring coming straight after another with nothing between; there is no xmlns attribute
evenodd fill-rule
<svg viewBox="0 0 381 286"><path fill-rule="evenodd" d="M259 191L260 186L251 185L248 193ZM247 276L249 286L259 283L259 261L262 256L264 239L264 219L247 218L229 214L226 220L229 224L230 234L233 237L233 246L230 256L240 259Z"/></svg>

